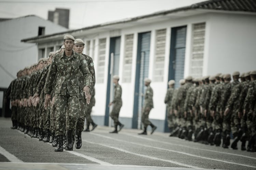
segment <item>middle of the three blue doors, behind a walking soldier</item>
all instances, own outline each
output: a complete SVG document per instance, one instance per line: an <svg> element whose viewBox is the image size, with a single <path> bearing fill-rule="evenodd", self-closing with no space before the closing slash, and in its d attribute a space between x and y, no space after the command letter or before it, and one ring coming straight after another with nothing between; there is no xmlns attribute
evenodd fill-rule
<svg viewBox="0 0 256 170"><path fill-rule="evenodd" d="M150 57L150 38L151 32L139 33L138 51L136 60L136 78L134 90L134 104L132 128L141 129L141 110L145 86L144 79L148 77L149 57Z"/></svg>

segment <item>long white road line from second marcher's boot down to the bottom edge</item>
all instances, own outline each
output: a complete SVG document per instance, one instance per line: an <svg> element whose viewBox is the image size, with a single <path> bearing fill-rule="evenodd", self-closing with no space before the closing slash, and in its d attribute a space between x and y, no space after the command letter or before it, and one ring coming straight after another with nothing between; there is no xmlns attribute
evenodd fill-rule
<svg viewBox="0 0 256 170"><path fill-rule="evenodd" d="M100 145L100 146L112 148L112 149L115 149L115 150L118 150L118 151L121 151L121 152L125 152L125 153L129 153L129 154L145 157L145 158L150 158L150 159L154 159L154 160L161 160L161 161L164 161L164 162L169 162L169 163L172 163L172 164L176 164L176 165L180 165L180 166L184 166L184 167L189 167L189 168L201 169L201 168L196 167L196 166L191 166L191 165L188 165L188 164L183 164L183 163L179 163L179 162L172 161L172 160L161 159L161 158L157 158L157 157L153 157L153 156L147 156L147 155L143 155L143 154L139 154L139 153L134 153L134 152L130 152L130 151L127 151L127 150L124 150L124 149L121 149L121 148L104 145L102 143L94 143L94 142L90 142L90 141L84 140L84 139L83 139L83 141L85 141L87 143L95 144L95 145Z"/></svg>

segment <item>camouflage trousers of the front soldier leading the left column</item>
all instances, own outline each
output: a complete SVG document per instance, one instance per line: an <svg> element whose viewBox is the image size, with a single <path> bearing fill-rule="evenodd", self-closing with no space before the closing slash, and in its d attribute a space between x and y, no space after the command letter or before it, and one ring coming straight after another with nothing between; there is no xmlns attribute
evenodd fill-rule
<svg viewBox="0 0 256 170"><path fill-rule="evenodd" d="M64 135L66 129L65 123L67 130L74 130L76 128L80 108L78 96L62 96L56 94L54 105L56 107L55 135Z"/></svg>

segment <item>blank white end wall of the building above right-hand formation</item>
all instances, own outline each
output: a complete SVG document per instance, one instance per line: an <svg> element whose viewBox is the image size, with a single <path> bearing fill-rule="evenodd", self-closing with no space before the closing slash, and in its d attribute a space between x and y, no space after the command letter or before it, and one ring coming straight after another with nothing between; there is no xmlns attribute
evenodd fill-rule
<svg viewBox="0 0 256 170"><path fill-rule="evenodd" d="M212 14L204 75L255 70L256 16Z"/></svg>

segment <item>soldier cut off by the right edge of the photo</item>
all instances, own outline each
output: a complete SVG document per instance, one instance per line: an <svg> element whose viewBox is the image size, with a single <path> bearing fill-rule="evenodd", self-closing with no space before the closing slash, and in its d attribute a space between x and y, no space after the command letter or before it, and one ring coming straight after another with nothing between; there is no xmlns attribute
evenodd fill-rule
<svg viewBox="0 0 256 170"><path fill-rule="evenodd" d="M256 70L250 72L251 82L244 100L243 115L247 117L248 152L255 152L256 146Z"/></svg>

